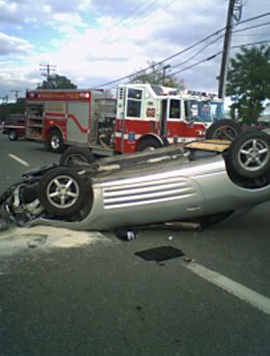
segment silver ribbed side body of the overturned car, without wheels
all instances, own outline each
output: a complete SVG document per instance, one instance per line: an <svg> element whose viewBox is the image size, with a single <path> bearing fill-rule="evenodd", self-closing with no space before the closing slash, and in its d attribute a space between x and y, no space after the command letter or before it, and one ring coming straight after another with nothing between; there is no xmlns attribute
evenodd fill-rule
<svg viewBox="0 0 270 356"><path fill-rule="evenodd" d="M91 189L89 187L89 189ZM228 176L222 155L196 161L177 158L144 162L125 169L112 166L92 179L93 206L82 221L36 219L77 230L107 230L185 220L254 206L270 199L270 186L247 189Z"/></svg>

